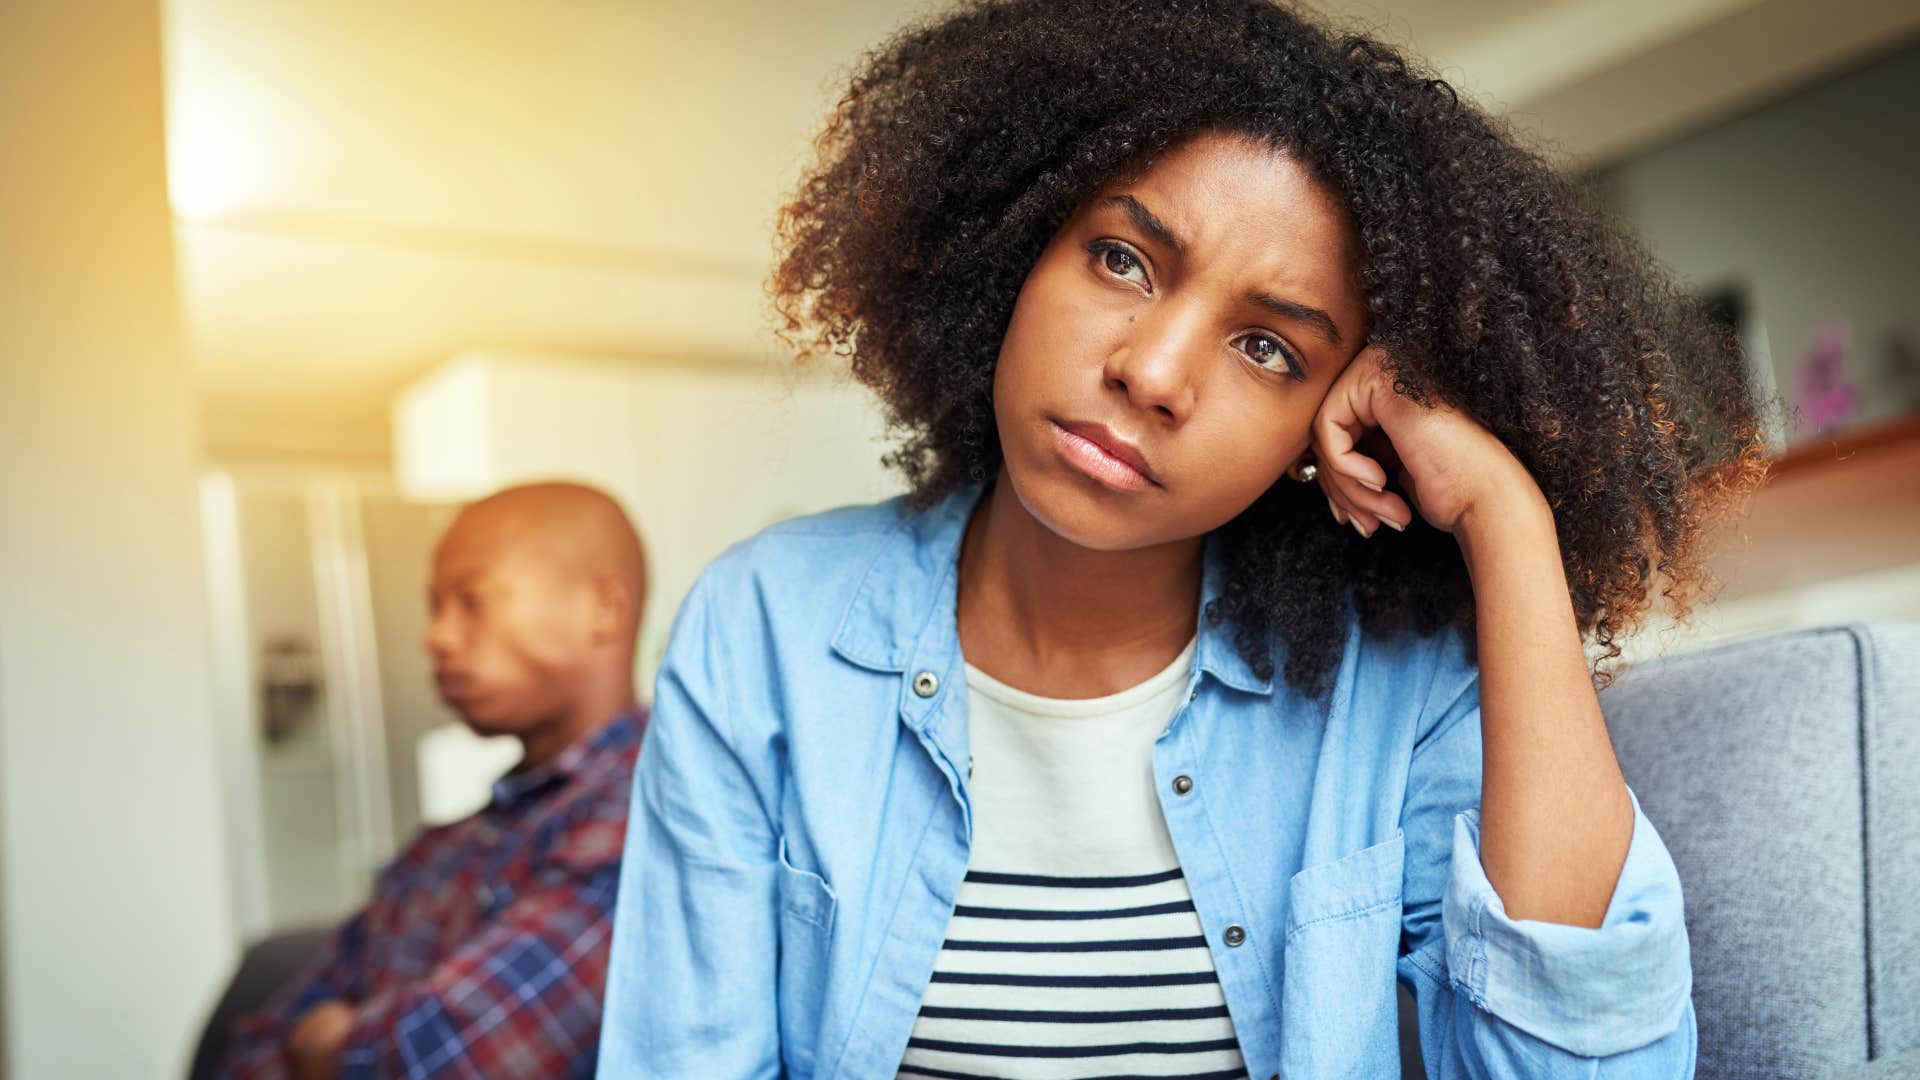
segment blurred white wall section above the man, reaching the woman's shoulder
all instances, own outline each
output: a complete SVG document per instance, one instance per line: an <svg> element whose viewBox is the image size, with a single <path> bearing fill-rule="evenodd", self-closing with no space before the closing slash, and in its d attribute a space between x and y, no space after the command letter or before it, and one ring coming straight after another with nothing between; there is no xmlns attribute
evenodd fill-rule
<svg viewBox="0 0 1920 1080"><path fill-rule="evenodd" d="M814 369L468 354L394 407L396 480L413 498L576 479L626 505L651 573L647 688L701 567L783 517L897 494L887 448L874 396Z"/></svg>

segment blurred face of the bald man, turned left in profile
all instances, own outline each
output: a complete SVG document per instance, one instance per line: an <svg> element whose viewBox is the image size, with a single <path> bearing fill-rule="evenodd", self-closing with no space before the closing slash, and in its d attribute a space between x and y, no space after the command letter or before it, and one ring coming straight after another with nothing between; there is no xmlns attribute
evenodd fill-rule
<svg viewBox="0 0 1920 1080"><path fill-rule="evenodd" d="M434 552L426 653L440 698L480 734L563 713L591 651L593 590L536 544L461 515Z"/></svg>

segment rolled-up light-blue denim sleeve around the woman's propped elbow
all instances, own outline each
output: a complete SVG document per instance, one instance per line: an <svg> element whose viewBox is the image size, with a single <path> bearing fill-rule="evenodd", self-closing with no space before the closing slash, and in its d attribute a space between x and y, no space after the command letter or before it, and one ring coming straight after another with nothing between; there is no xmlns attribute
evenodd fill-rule
<svg viewBox="0 0 1920 1080"><path fill-rule="evenodd" d="M1628 788L1634 834L1599 926L1511 919L1480 865L1478 673L1415 746L1400 980L1432 1078L1692 1076L1680 874Z"/></svg>

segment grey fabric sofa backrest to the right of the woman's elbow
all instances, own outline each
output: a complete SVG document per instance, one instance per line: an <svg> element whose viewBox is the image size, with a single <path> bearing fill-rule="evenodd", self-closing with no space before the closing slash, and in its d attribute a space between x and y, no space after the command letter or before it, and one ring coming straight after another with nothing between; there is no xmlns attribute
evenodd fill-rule
<svg viewBox="0 0 1920 1080"><path fill-rule="evenodd" d="M1920 625L1644 661L1601 707L1686 890L1699 1076L1920 1049Z"/></svg>

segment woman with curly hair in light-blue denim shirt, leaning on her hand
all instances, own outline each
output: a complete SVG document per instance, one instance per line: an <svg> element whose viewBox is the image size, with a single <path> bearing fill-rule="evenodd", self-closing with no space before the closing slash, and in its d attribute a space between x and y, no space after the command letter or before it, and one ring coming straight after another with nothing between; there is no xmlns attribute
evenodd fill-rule
<svg viewBox="0 0 1920 1080"><path fill-rule="evenodd" d="M682 607L603 1076L1388 1076L1396 980L1434 1076L1692 1074L1596 675L1763 465L1644 254L1265 0L902 33L781 240L912 496Z"/></svg>

